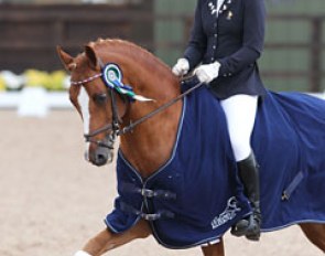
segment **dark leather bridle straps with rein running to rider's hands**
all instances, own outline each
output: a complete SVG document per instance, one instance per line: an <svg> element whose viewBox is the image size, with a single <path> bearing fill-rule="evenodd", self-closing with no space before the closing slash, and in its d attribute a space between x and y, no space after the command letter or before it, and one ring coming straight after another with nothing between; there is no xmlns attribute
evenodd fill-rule
<svg viewBox="0 0 325 256"><path fill-rule="evenodd" d="M86 79L83 81L78 81L78 82L71 82L72 85L85 85L87 83L90 83L95 79L98 79L99 77L104 81L104 67L106 65L102 64L102 62L99 60L99 64L101 67L101 73L98 73L94 76L90 76ZM181 83L184 83L184 81L182 81ZM113 149L113 143L115 140L118 136L122 136L124 134L128 134L130 131L132 131L134 129L136 126L142 124L143 121L148 120L149 118L153 117L154 115L163 111L164 109L169 108L170 106L174 105L175 103L177 103L180 99L184 98L186 95L191 94L193 90L197 89L198 87L201 87L204 83L199 82L197 84L195 84L193 87L191 87L189 89L187 89L186 92L184 92L183 94L176 96L175 98L171 99L170 102L167 102L166 104L160 106L159 108L154 109L153 111L147 114L145 116L139 118L136 121L130 121L130 124L126 127L123 127L122 129L120 128L121 125L121 118L119 116L118 113L118 106L117 106L117 99L116 99L116 92L113 88L108 87L108 89L110 90L110 98L111 98L111 113L112 113L112 118L111 118L111 124L105 125L104 127L100 127L89 134L85 134L85 140L86 142L93 142L96 143L98 147L104 147L104 148L108 148L108 149ZM130 104L132 102L132 99L128 99L126 97L123 97L123 102L127 104ZM108 143L102 141L102 140L95 140L94 137L102 134L102 132L108 132L111 131L109 137L108 137Z"/></svg>

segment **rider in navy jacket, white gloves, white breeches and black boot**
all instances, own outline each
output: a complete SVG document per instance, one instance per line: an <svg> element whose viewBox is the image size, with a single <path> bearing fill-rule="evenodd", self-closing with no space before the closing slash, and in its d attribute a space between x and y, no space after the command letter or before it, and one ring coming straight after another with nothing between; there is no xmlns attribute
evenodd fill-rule
<svg viewBox="0 0 325 256"><path fill-rule="evenodd" d="M220 100L239 178L253 209L231 233L252 241L259 239L261 225L259 169L250 137L258 98L266 94L257 64L264 20L263 0L198 0L184 57L173 67L177 76L196 67L194 74Z"/></svg>

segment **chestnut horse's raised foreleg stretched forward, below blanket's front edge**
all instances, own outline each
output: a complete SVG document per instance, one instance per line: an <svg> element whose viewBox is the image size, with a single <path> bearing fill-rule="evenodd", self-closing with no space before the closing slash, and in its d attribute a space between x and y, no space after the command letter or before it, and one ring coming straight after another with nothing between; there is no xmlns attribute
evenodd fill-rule
<svg viewBox="0 0 325 256"><path fill-rule="evenodd" d="M104 230L94 238L89 239L83 248L80 255L99 256L106 252L127 244L136 238L145 238L151 234L149 224L140 221L129 231L121 234L113 234L109 230ZM78 254L76 254L78 256Z"/></svg>

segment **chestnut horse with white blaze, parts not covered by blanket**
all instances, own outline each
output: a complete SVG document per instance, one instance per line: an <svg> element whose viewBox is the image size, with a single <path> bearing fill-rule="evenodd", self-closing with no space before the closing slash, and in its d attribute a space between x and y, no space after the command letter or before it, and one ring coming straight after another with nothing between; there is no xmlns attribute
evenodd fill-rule
<svg viewBox="0 0 325 256"><path fill-rule="evenodd" d="M86 159L96 166L111 162L115 137L121 135L120 150L124 158L143 179L150 177L171 157L183 102L177 100L163 111L132 126L131 131L123 128L130 128L132 121L176 98L181 94L178 78L151 53L121 40L90 42L85 46L85 52L76 57L61 47L57 51L65 68L71 72L69 97L84 121ZM107 63L115 63L122 70L123 84L131 85L137 94L154 100L130 103L127 96L108 88L101 79L102 66ZM325 225L305 223L300 226L307 238L325 252ZM149 222L143 218L123 233L117 234L105 228L76 255L102 255L151 234ZM202 250L205 256L224 256L223 238L219 243L202 245Z"/></svg>

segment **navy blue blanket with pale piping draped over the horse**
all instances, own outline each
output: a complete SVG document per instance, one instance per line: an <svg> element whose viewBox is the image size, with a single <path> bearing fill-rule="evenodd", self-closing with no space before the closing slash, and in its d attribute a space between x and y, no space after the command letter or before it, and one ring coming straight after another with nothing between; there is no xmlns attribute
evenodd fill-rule
<svg viewBox="0 0 325 256"><path fill-rule="evenodd" d="M263 231L325 223L325 100L268 93L252 147L261 172ZM119 151L117 174L119 196L105 220L108 228L120 233L143 217L165 247L215 241L251 212L224 111L206 87L184 99L177 140L164 166L143 180Z"/></svg>

